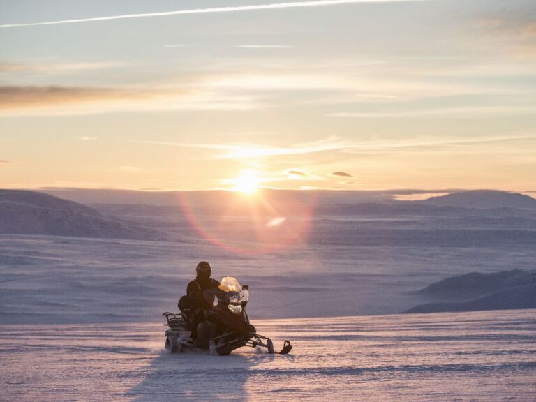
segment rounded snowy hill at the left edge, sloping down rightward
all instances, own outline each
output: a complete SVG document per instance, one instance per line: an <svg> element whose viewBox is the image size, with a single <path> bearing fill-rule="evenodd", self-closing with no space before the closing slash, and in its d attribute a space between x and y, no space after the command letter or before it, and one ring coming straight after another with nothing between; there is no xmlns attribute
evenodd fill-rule
<svg viewBox="0 0 536 402"><path fill-rule="evenodd" d="M154 230L129 225L73 201L35 191L0 190L0 233L156 239Z"/></svg>

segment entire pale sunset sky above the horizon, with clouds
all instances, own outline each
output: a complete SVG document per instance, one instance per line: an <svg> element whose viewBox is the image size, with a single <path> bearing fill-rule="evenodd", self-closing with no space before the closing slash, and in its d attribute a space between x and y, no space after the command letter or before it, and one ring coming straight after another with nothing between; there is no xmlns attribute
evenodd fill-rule
<svg viewBox="0 0 536 402"><path fill-rule="evenodd" d="M0 187L536 190L536 3L0 3Z"/></svg>

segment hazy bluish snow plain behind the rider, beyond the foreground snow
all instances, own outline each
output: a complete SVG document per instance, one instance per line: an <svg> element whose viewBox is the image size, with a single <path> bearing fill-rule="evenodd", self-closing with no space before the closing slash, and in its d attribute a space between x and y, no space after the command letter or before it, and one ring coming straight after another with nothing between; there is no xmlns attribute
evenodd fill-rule
<svg viewBox="0 0 536 402"><path fill-rule="evenodd" d="M176 311L202 259L251 288L258 318L400 313L410 292L468 271L533 269L530 244L295 245L237 255L188 243L0 235L0 323L153 322Z"/></svg>

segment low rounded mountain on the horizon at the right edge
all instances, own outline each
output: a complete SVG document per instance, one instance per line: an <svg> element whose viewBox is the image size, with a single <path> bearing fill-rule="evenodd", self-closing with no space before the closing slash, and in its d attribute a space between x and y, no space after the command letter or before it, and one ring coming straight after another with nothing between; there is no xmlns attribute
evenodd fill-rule
<svg viewBox="0 0 536 402"><path fill-rule="evenodd" d="M418 201L417 203L435 207L536 209L535 198L519 193L496 190L461 191L440 197L431 197L428 200Z"/></svg>

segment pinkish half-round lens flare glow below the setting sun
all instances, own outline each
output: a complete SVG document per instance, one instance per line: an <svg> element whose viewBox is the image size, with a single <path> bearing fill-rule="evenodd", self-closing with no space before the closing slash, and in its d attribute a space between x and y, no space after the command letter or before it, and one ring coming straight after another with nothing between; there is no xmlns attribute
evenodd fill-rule
<svg viewBox="0 0 536 402"><path fill-rule="evenodd" d="M253 193L247 194L244 197L244 190L184 191L179 195L179 202L188 223L198 234L232 253L270 253L306 242L314 197L304 197L299 191L257 186Z"/></svg>

